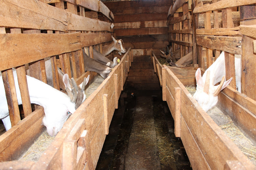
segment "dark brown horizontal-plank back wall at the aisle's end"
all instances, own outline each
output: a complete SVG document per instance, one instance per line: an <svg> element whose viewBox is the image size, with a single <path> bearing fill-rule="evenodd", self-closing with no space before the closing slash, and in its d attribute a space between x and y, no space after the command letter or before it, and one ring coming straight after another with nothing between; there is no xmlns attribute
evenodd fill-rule
<svg viewBox="0 0 256 170"><path fill-rule="evenodd" d="M151 50L159 56L159 49L169 45L167 14L172 0L119 1L104 3L114 14L114 34L131 47L133 63L127 81L137 88L159 88L159 80L151 63Z"/></svg>

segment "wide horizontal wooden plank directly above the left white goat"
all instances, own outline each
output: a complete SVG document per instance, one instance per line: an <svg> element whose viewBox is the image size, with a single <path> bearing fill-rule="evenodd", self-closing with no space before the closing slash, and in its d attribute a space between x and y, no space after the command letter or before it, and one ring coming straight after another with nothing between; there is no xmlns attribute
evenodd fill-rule
<svg viewBox="0 0 256 170"><path fill-rule="evenodd" d="M1 34L0 70L81 49L80 33ZM65 47L65 48L62 48ZM16 56L19 56L18 58ZM12 60L10 60L12 58Z"/></svg>

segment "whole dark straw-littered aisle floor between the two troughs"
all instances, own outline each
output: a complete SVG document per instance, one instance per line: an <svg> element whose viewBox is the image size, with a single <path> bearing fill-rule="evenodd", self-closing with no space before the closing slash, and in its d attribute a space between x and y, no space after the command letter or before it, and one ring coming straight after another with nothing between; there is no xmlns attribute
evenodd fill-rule
<svg viewBox="0 0 256 170"><path fill-rule="evenodd" d="M96 169L191 169L161 90L126 86Z"/></svg>

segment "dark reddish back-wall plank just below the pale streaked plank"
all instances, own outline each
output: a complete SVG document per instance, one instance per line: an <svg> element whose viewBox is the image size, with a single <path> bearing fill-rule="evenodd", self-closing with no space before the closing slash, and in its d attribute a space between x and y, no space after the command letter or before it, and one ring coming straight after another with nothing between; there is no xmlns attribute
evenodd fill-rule
<svg viewBox="0 0 256 170"><path fill-rule="evenodd" d="M118 29L115 30L116 36L128 35L151 35L151 34L167 34L168 28L131 28L131 29Z"/></svg>

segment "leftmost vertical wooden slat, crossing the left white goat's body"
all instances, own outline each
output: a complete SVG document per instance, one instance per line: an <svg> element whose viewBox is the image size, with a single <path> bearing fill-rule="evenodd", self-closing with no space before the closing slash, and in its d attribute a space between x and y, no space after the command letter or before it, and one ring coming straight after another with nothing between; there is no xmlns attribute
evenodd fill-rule
<svg viewBox="0 0 256 170"><path fill-rule="evenodd" d="M9 115L12 126L14 126L18 123L18 121L20 121L20 115L12 69L2 71L2 78L8 103Z"/></svg>

